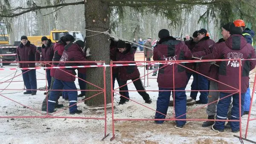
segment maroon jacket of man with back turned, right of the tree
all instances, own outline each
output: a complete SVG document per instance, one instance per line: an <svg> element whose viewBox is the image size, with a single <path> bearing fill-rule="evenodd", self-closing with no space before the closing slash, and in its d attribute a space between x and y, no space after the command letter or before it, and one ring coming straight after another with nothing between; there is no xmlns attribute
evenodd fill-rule
<svg viewBox="0 0 256 144"><path fill-rule="evenodd" d="M160 39L154 48L154 60L191 60L192 53L184 42L174 37ZM184 63L180 63L184 66ZM185 87L187 82L186 68L177 63L160 64L157 77L158 86L161 88ZM173 74L174 69L174 74ZM174 75L174 79L173 79ZM174 81L174 84L173 84Z"/></svg>

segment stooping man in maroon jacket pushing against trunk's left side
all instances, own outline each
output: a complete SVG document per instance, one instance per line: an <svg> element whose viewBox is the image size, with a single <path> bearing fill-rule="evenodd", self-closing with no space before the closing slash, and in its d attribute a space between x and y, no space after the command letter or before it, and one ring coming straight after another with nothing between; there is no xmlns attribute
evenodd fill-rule
<svg viewBox="0 0 256 144"><path fill-rule="evenodd" d="M60 61L86 61L84 58L83 52L81 48L73 43L75 38L72 35L66 35L66 43L67 45L64 47L64 52L61 56ZM79 66L79 65L90 65L96 63L59 63L58 66ZM75 85L76 80L76 72L74 68L64 68L64 69L56 69L55 71L55 81L52 86L52 90L48 99L48 112L54 112L55 103L58 99L58 91L64 90L77 90ZM77 91L67 91L69 106L70 106L70 114L79 114L82 111L77 109Z"/></svg>

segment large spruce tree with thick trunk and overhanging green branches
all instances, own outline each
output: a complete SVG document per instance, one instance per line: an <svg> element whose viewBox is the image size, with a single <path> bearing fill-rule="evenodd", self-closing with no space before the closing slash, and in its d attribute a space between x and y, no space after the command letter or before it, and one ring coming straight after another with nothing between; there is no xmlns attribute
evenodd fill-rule
<svg viewBox="0 0 256 144"><path fill-rule="evenodd" d="M135 12L140 12L142 14L145 14L146 12L147 14L151 13L165 17L167 20L169 20L169 25L174 26L171 32L177 32L175 31L175 28L178 25L184 23L185 19L181 16L182 10L191 12L195 6L200 6L205 9L204 14L199 17L199 20L206 20L206 17L209 17L211 19L215 18L215 20L218 20L216 21L218 26L233 21L237 17L244 19L245 21L248 21L252 24L256 22L254 15L251 13L256 10L254 0L81 0L75 2L73 0L24 0L26 6L14 6L12 5L13 3L10 3L10 1L11 0L0 0L0 21L5 22L8 29L11 28L10 21L13 20L13 17L17 17L28 12L39 12L39 10L42 11L43 13L44 9L46 9L45 12L48 13L49 9L52 8L55 8L55 10L58 10L59 8L65 9L63 13L65 13L66 15L64 15L61 18L63 19L64 23L67 24L66 26L69 26L70 29L79 29L77 25L81 23L75 21L73 18L77 17L78 14L74 12L71 6L83 5L83 19L85 18L86 23L85 28L90 30L85 32L87 36L86 46L90 47L92 53L92 57L90 58L90 60L105 60L107 64L110 62L108 41L109 35L100 34L92 37L90 36L97 34L97 32L109 32L110 29L114 28L114 26L116 25L112 25L110 20L113 19L111 19L110 16L114 13L116 14L113 15L114 17L123 17L124 8L126 7L130 7L134 9ZM38 4L41 2L42 4ZM233 3L236 3L236 5L234 5ZM249 8L250 11L248 11ZM38 22L38 26L42 26L41 28L38 28L38 30L41 31L41 35L47 35L49 33L49 30L55 27L55 18L53 14L49 15L51 16L47 15L47 17L37 18L37 20L40 21ZM9 20L8 18L11 20ZM23 20L19 18L18 23L23 23L25 18ZM58 26L62 26L62 23L58 23ZM149 23L148 27L152 27L152 23ZM146 27L145 29L148 29L148 27ZM23 26L23 29L25 28L27 29L26 26ZM22 28L20 27L20 29ZM156 33L152 32L152 29L148 29L146 35L155 35ZM24 32L20 31L20 35L23 34ZM106 76L108 103L111 100L109 67L107 68ZM96 84L100 87L103 87L102 68L88 69L87 78L89 82ZM87 88L97 89L94 86L91 86L90 84L88 84ZM96 92L87 92L87 97L92 96L95 93ZM92 100L87 101L87 104L104 104L103 96L97 96Z"/></svg>

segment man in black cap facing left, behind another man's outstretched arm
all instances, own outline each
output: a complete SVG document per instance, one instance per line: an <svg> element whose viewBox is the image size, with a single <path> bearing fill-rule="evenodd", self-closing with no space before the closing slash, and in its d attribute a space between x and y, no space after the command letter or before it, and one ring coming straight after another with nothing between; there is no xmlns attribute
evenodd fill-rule
<svg viewBox="0 0 256 144"><path fill-rule="evenodd" d="M191 50L192 53L194 52L200 52L203 50L208 50L210 46L215 44L213 40L211 40L207 34L206 29L200 29L198 32L198 43L195 45L195 47ZM200 96L199 100L196 101L196 104L207 104L208 103L208 80L205 76L209 75L209 68L211 64L208 62L201 62L201 63L196 63L196 71L199 72L200 74L197 75L197 86ZM190 96L196 100L198 91L191 92ZM193 94L193 95L192 95Z"/></svg>

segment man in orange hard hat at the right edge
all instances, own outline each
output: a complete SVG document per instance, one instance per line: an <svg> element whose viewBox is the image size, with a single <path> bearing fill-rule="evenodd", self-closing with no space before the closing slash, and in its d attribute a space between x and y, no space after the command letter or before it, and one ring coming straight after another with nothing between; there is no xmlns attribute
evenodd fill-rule
<svg viewBox="0 0 256 144"><path fill-rule="evenodd" d="M233 23L235 24L236 27L240 27L242 29L242 35L246 39L247 43L250 43L253 46L253 37L255 37L255 32L249 28L245 28L244 20L235 20ZM244 98L244 114L249 114L250 101L250 86L248 86Z"/></svg>

